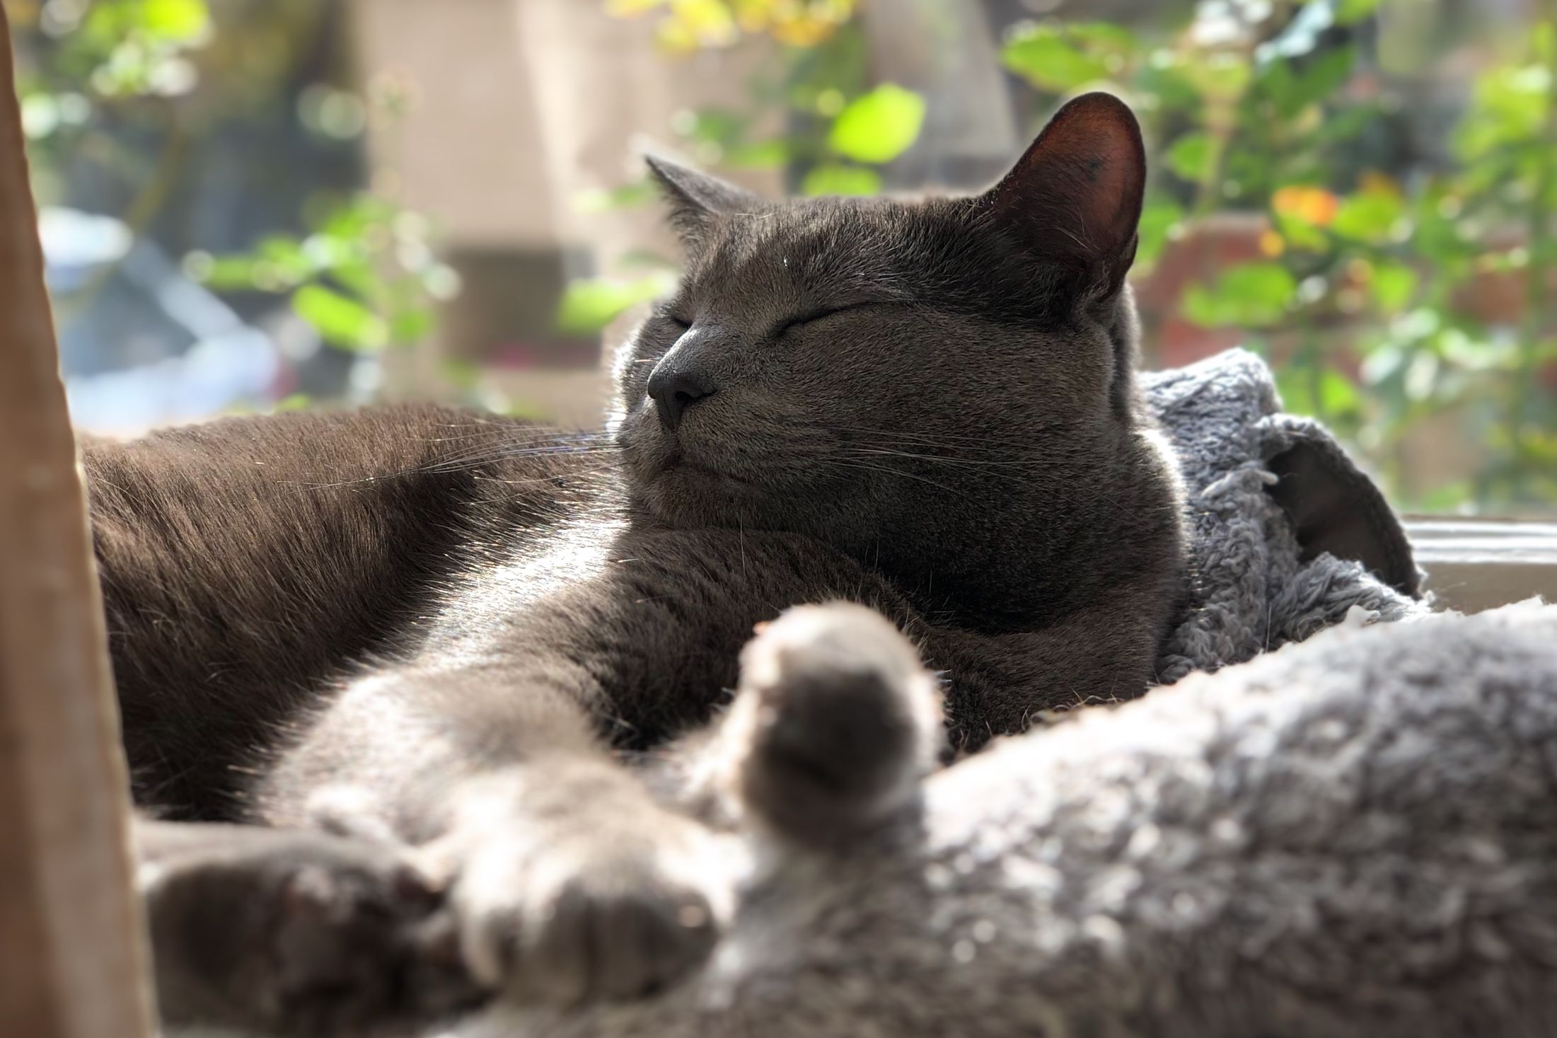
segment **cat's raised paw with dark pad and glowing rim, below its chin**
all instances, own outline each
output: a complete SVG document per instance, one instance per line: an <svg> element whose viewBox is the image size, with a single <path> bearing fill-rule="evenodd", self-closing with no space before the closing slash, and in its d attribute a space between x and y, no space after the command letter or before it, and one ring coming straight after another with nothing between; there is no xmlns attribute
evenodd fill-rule
<svg viewBox="0 0 1557 1038"><path fill-rule="evenodd" d="M909 805L934 764L940 694L919 652L863 605L802 605L741 652L722 739L746 809L813 843L869 831Z"/></svg>

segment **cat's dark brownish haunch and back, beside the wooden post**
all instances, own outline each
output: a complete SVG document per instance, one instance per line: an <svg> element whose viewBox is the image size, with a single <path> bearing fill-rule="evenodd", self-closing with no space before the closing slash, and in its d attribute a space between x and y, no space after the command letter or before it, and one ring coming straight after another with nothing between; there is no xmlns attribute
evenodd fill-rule
<svg viewBox="0 0 1557 1038"><path fill-rule="evenodd" d="M537 437L422 405L86 437L135 792L232 820L254 750L313 689L414 635L475 545L556 520L578 461L501 450Z"/></svg>

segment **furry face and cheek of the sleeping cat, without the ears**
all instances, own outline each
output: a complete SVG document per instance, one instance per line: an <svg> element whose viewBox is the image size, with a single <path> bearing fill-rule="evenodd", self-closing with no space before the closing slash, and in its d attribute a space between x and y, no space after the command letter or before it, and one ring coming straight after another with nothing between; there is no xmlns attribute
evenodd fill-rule
<svg viewBox="0 0 1557 1038"><path fill-rule="evenodd" d="M1127 289L1054 297L1065 272L978 199L708 219L680 289L617 364L640 507L679 528L810 534L981 626L1051 619L1143 577L1169 596L1177 501L1137 402ZM718 384L676 433L645 395L673 347Z"/></svg>

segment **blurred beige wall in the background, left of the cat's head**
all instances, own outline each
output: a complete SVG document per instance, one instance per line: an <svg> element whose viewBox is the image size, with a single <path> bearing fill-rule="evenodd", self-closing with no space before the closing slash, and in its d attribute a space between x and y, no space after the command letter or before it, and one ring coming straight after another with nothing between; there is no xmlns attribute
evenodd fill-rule
<svg viewBox="0 0 1557 1038"><path fill-rule="evenodd" d="M416 395L442 359L475 359L526 409L598 422L599 342L557 333L556 299L568 279L632 274L627 254L676 246L654 205L584 212L579 199L638 179L645 151L674 156L677 114L738 104L771 51L752 40L671 58L651 20L609 17L603 0L350 3L363 86L403 98L394 115L374 106L380 187L436 215L464 282L433 349L391 358L388 395ZM775 173L738 179L782 187Z"/></svg>

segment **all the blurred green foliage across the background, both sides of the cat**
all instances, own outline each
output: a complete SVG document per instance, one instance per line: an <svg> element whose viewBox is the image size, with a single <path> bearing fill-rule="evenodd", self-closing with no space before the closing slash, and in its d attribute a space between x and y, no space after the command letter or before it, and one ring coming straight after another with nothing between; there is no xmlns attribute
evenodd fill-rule
<svg viewBox="0 0 1557 1038"><path fill-rule="evenodd" d="M749 36L772 40L772 61L744 96L671 126L699 165L777 170L808 195L873 195L920 139L925 98L870 73L859 22L870 0L603 2L612 14L654 19L668 61ZM53 173L69 162L128 170L137 195L125 219L137 233L167 199L190 135L226 115L201 107L201 84L226 78L229 92L262 98L280 75L274 48L257 47L248 26L224 20L227 6L207 0L3 3L33 58L19 87L39 193L50 201ZM1160 313L1238 330L1277 367L1286 406L1353 437L1403 506L1551 509L1557 0L1532 3L1527 33L1476 54L1439 154L1404 163L1389 140L1401 104L1415 101L1409 92L1428 79L1392 82L1381 68L1386 51L1403 47L1403 26L1398 11L1387 31L1380 19L1403 0L1207 0L1165 5L1177 20L1129 26L1029 20L1006 31L1000 62L1020 84L1031 129L1087 89L1118 92L1141 115L1154 177L1137 275L1190 269L1172 299L1155 302ZM265 8L282 11L319 17L311 0ZM305 36L299 25L288 31ZM324 86L315 93L299 118L319 132L361 132L367 100ZM148 160L103 132L125 124L160 140L160 156ZM640 181L579 202L599 210L649 198ZM1244 258L1204 269L1172 258L1228 215L1253 229ZM218 289L286 297L332 347L353 353L424 341L438 302L458 289L427 221L388 198L332 199L304 226L263 235L241 255L195 252L185 269ZM623 279L575 282L557 325L595 333L673 275L663 258L640 257ZM1439 439L1423 440L1426 428ZM1422 442L1445 437L1478 456L1470 478L1423 476L1412 464Z"/></svg>

